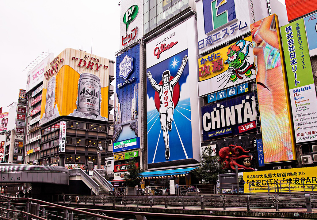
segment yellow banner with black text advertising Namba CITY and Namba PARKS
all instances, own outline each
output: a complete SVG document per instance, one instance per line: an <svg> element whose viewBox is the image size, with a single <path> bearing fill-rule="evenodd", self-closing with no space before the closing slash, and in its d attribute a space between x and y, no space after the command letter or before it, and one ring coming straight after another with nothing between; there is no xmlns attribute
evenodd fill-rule
<svg viewBox="0 0 317 220"><path fill-rule="evenodd" d="M317 167L243 173L244 192L296 192L317 190Z"/></svg>

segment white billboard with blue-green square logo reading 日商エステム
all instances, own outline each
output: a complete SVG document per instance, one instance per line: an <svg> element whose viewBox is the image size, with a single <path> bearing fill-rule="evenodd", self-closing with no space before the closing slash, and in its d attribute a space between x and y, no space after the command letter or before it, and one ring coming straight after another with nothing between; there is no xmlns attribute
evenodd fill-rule
<svg viewBox="0 0 317 220"><path fill-rule="evenodd" d="M199 54L250 31L248 1L198 0L196 8Z"/></svg>

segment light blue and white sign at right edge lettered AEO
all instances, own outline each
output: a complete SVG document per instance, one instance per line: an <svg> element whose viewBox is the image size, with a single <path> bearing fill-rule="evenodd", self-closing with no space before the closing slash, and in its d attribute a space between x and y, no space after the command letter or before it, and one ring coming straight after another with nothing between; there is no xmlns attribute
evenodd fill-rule
<svg viewBox="0 0 317 220"><path fill-rule="evenodd" d="M317 3L316 9L317 9ZM307 41L308 41L308 48L309 48L309 55L315 56L317 55L317 13L309 15L304 18L305 21L305 28L307 34ZM305 36L303 36L305 38Z"/></svg>

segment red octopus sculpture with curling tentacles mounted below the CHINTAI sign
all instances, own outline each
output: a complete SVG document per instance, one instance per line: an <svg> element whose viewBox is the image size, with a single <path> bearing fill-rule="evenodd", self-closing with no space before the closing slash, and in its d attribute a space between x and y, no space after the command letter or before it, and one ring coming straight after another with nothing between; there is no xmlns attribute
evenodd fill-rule
<svg viewBox="0 0 317 220"><path fill-rule="evenodd" d="M249 150L244 150L241 146L230 144L229 147L223 147L219 150L220 160L218 162L220 164L223 163L223 168L231 168L232 170L236 169L236 165L238 166L238 170L255 170L237 162L237 160L242 160L243 162L245 158L249 158L250 160L253 158L253 156L240 155L241 153L249 153Z"/></svg>

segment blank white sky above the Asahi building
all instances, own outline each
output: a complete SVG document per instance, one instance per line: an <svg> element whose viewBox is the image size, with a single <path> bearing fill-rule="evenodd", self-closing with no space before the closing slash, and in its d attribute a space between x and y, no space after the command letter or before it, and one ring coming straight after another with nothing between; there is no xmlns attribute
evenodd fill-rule
<svg viewBox="0 0 317 220"><path fill-rule="evenodd" d="M43 51L67 47L115 61L120 43L119 0L0 0L0 106L26 88L27 67Z"/></svg>

